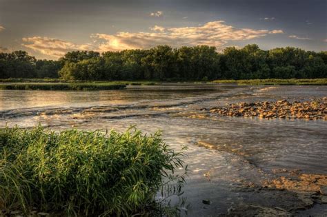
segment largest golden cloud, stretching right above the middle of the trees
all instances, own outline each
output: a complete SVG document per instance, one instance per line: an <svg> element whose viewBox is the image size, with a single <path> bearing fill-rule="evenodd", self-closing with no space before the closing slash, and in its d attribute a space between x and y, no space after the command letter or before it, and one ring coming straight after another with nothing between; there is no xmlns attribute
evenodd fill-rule
<svg viewBox="0 0 327 217"><path fill-rule="evenodd" d="M146 49L156 45L167 44L172 47L182 45L210 45L221 50L228 41L244 41L265 37L268 34L281 34L282 30L255 30L235 28L224 21L212 21L196 27L151 28L156 32L117 32L117 34L93 34L92 37L102 39L99 51Z"/></svg>

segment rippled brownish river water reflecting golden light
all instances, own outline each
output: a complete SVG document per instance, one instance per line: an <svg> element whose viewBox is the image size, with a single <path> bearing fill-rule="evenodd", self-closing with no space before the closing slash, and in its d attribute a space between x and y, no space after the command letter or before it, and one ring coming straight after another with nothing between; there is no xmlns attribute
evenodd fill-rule
<svg viewBox="0 0 327 217"><path fill-rule="evenodd" d="M100 92L0 91L0 127L37 123L62 130L115 129L137 125L162 130L169 145L187 146L190 169L184 197L189 216L218 216L237 205L301 207L293 192L262 192L275 169L327 174L327 122L220 117L208 109L239 101L327 96L326 86L236 86L167 84ZM210 200L210 205L202 204ZM287 203L292 203L288 205ZM293 214L324 215L326 204Z"/></svg>

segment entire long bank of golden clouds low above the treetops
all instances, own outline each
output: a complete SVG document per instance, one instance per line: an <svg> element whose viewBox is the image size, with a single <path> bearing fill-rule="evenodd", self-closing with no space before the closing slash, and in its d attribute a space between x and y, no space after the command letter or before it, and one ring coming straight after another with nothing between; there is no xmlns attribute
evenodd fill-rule
<svg viewBox="0 0 327 217"><path fill-rule="evenodd" d="M91 43L76 44L48 37L23 38L23 46L34 51L58 58L72 50L147 49L157 45L181 46L210 45L222 50L226 43L265 37L268 34L281 34L282 30L255 30L235 28L224 21L213 21L204 25L183 28L164 28L155 25L149 32L117 32L116 34L92 34Z"/></svg>

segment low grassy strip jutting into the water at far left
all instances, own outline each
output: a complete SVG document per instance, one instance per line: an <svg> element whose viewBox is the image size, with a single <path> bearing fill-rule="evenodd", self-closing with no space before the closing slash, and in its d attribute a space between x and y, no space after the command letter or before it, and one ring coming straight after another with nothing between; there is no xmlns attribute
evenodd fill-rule
<svg viewBox="0 0 327 217"><path fill-rule="evenodd" d="M8 83L0 90L122 90L123 84L112 83Z"/></svg>

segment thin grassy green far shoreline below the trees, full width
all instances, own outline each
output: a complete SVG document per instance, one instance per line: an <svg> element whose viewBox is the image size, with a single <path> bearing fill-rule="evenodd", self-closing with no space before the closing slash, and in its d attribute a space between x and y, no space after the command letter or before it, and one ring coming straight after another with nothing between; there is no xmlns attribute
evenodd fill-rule
<svg viewBox="0 0 327 217"><path fill-rule="evenodd" d="M327 79L249 79L215 81L64 81L60 79L0 79L0 90L122 90L127 85L164 83L237 85L327 85Z"/></svg>

